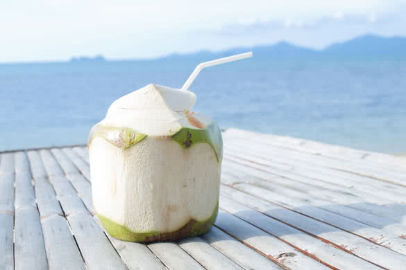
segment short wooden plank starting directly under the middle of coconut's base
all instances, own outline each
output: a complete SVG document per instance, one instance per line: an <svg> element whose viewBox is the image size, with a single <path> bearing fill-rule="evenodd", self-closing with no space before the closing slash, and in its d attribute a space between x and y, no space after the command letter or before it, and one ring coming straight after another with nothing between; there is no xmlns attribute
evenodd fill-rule
<svg viewBox="0 0 406 270"><path fill-rule="evenodd" d="M148 247L170 270L204 269L174 242L153 243Z"/></svg>

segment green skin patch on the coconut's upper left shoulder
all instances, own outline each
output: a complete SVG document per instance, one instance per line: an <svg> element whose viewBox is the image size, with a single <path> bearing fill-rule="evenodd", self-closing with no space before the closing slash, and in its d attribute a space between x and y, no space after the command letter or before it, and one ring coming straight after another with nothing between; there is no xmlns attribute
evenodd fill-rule
<svg viewBox="0 0 406 270"><path fill-rule="evenodd" d="M90 129L89 139L87 140L87 147L90 148L93 139L99 136L104 138L112 145L121 149L128 149L146 138L146 134L137 132L130 127L112 127L107 125L94 125Z"/></svg>

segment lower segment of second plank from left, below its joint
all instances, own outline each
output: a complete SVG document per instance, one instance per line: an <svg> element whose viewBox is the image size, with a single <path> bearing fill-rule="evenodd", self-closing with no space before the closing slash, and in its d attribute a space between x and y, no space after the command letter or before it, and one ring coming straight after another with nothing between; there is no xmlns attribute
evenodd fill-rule
<svg viewBox="0 0 406 270"><path fill-rule="evenodd" d="M15 269L48 268L40 215L36 208L15 211Z"/></svg>

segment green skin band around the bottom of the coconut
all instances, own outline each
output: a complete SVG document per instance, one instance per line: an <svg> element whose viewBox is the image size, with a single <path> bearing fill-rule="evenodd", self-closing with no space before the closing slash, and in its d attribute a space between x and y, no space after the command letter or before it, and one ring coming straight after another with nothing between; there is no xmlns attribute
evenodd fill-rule
<svg viewBox="0 0 406 270"><path fill-rule="evenodd" d="M176 241L183 239L185 237L194 237L197 235L202 235L203 233L207 233L212 228L214 222L216 221L217 214L219 213L219 203L217 202L217 206L212 213L212 215L205 220L196 221L194 219L190 219L184 226L178 228L172 232L165 232L161 233L159 231L150 231L150 232L134 232L130 231L129 228L126 226L117 224L113 222L111 219L100 215L96 211L97 217L105 231L108 232L109 235L115 237L119 240L124 240L128 242L139 242L139 243L146 243L146 242L157 242L157 241Z"/></svg>

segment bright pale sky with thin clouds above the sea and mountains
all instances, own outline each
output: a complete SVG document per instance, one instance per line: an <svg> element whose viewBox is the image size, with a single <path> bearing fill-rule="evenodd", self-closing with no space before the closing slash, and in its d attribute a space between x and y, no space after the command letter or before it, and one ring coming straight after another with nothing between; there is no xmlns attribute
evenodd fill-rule
<svg viewBox="0 0 406 270"><path fill-rule="evenodd" d="M137 59L281 40L406 36L406 0L0 0L0 62Z"/></svg>

